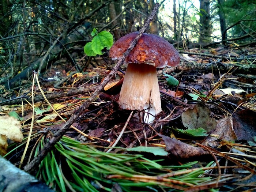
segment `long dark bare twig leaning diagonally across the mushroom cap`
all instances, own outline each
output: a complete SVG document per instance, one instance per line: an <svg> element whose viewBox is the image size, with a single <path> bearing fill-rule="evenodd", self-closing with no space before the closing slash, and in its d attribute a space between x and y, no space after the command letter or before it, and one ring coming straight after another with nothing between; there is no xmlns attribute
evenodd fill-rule
<svg viewBox="0 0 256 192"><path fill-rule="evenodd" d="M103 80L103 82L99 85L98 89L94 91L94 93L91 95L90 98L87 99L86 102L83 103L83 105L80 106L78 110L74 112L74 114L69 118L69 120L57 131L54 136L49 140L48 143L45 144L45 146L41 149L39 154L29 163L29 165L24 167L24 170L26 172L33 172L40 162L45 158L47 153L54 147L54 145L63 137L63 135L67 132L69 127L76 121L77 118L86 110L92 101L97 97L99 92L106 86L106 84L109 82L109 80L116 74L117 70L120 68L120 66L124 63L125 58L128 56L128 54L131 52L131 50L135 47L137 42L139 41L139 38L142 36L144 31L149 26L151 20L153 20L155 14L157 13L157 10L159 8L159 3L155 4L154 10L152 11L151 15L149 16L147 22L140 30L139 34L135 37L135 39L130 44L129 48L125 51L122 58L117 62L116 66L113 67L112 71L109 73L108 76Z"/></svg>

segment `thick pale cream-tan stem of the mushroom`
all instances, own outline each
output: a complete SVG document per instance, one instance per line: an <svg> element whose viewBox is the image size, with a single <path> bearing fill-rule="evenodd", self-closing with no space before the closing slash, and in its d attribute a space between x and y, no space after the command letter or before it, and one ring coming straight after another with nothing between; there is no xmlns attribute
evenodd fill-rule
<svg viewBox="0 0 256 192"><path fill-rule="evenodd" d="M119 105L122 109L145 110L144 123L150 123L161 112L157 70L153 65L128 64Z"/></svg>

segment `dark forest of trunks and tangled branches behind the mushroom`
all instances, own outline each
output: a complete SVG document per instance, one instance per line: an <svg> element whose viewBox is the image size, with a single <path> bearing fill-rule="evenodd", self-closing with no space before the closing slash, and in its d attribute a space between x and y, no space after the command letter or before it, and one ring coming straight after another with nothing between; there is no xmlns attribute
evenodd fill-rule
<svg viewBox="0 0 256 192"><path fill-rule="evenodd" d="M160 8L147 33L166 38L177 49L255 46L254 0L157 2ZM46 69L63 62L67 71L85 71L91 58L84 56L83 46L91 41L94 27L110 31L117 40L139 30L154 4L154 0L1 0L2 89L21 85L33 70L49 77Z"/></svg>

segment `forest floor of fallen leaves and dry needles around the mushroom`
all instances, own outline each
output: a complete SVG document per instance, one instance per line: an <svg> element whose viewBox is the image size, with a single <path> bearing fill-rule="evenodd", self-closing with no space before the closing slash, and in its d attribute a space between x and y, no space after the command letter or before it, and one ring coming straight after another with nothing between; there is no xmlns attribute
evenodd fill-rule
<svg viewBox="0 0 256 192"><path fill-rule="evenodd" d="M123 65L89 108L72 124L74 129L70 128L66 132L64 139L59 142L59 148L62 144L65 150L77 150L79 147L71 148L72 142L67 140L74 139L86 146L97 148L99 153L104 151L119 155L140 154L143 158L147 158L148 162L158 162L163 159L159 163L161 166L176 166L173 169L169 167L168 170L165 167L166 173L163 173L163 167L159 169L159 172L154 170L155 175L147 167L148 172L143 172L148 176L147 178L143 178L142 174L133 173L133 180L122 173L103 172L107 176L101 177L113 182L118 181L117 183L120 183L123 190L126 186L124 180L128 180L129 184L131 182L154 183L156 188L162 191L169 191L170 188L181 191L212 188L220 191L256 190L256 73L253 68L256 64L256 49L220 46L212 49L191 49L187 52L189 54L180 54L181 65L177 68L165 68L158 71L162 112L153 123L150 125L140 123L138 119L131 116L131 111L121 110L118 107L118 93L126 67ZM209 55L217 57L209 57ZM108 57L98 57L92 58L89 64L86 64L85 60L80 60L79 64L87 66L83 73L71 74L74 67L63 60L61 63L52 65L44 76L39 78L39 84L34 82L32 86L31 82L30 84L27 82L20 89L2 93L2 98L11 97L12 99L2 100L1 115L14 116L18 119L21 122L22 135L25 137L21 142L24 145L9 142L8 148L6 145L1 148L1 154L5 155L5 158L19 164L24 150L27 150L22 160L22 167L27 165L75 110L90 98L91 93L111 70L109 66L113 66L114 61ZM190 67L193 70L187 69L186 66L193 66ZM229 66L229 68L226 69L223 66ZM246 66L250 68L251 74L248 73ZM170 75L178 80L178 85L175 85ZM22 99L16 99L18 97ZM15 129L15 126L12 128ZM17 134L16 131L13 133ZM27 143L28 135L30 135L30 143L26 149L25 143ZM114 146L115 148L109 148ZM138 146L141 148L137 148ZM147 150L146 147L155 147L157 150L153 148ZM61 153L59 148L53 148L52 151L55 152L50 154L51 157L47 157L52 159L56 155L55 160L59 165L57 167L60 167L61 163L64 164L61 159L68 157L68 153ZM126 150L128 148L133 148L133 150ZM162 151L160 148L165 150ZM100 159L98 156L95 158ZM82 158L80 160L82 161ZM94 161L97 162L95 159L92 160ZM139 160L141 161L146 161L146 159ZM196 163L192 163L190 168L185 166L195 161ZM68 161L66 163L66 166L71 166ZM91 166L93 165L92 163ZM103 165L106 166L106 164ZM44 166L44 163L41 163L41 166ZM126 162L125 166L132 166L132 164L129 165ZM154 176L155 179L159 175L173 173L174 169L179 170L178 166L181 166L182 171L187 170L184 177L194 171L192 168L201 167L203 172L196 174L195 177L201 178L202 181L197 181L192 176L191 180L176 178L180 182L167 181L167 178L173 178L173 175L163 177L166 180L151 178ZM50 175L45 173L44 169L39 170L38 178L57 191L63 191L64 185L66 186L64 188L73 187L78 190L78 184L71 184L70 187L65 179L63 179L65 183L63 185L57 182L58 178L49 181ZM75 170L74 167L70 169ZM101 174L100 170L98 172ZM68 177L68 173L60 173L63 178ZM82 178L81 174L77 173ZM88 173L83 177L90 177L89 183L92 188L97 186L98 188L95 188L101 191L105 189L102 185L111 185L107 181L102 184L103 181L89 175ZM134 175L140 175L140 177ZM211 178L211 180L203 180L203 178ZM72 182L74 180L72 178ZM97 180L97 182L92 184L92 180ZM135 187L135 185L130 187ZM139 187L142 189L142 185ZM154 191L153 187L151 188L147 190ZM113 189L113 187L108 189Z"/></svg>

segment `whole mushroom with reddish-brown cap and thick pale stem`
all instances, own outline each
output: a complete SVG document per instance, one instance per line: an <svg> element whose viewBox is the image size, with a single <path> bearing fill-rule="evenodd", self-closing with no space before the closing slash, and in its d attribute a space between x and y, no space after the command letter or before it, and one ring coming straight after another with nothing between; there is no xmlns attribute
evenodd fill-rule
<svg viewBox="0 0 256 192"><path fill-rule="evenodd" d="M118 39L109 56L119 60L139 32L133 32ZM135 48L126 57L128 63L120 91L121 109L144 110L144 123L150 123L162 111L157 69L180 63L177 50L165 39L143 33ZM140 113L142 115L142 113Z"/></svg>

